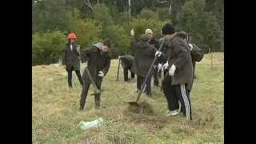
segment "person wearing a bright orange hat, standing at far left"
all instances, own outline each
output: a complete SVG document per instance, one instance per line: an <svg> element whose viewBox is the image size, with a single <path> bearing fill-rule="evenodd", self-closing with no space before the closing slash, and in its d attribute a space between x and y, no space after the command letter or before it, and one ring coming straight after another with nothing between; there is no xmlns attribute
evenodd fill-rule
<svg viewBox="0 0 256 144"><path fill-rule="evenodd" d="M68 43L66 44L66 48L64 51L63 64L66 67L67 71L67 82L70 89L72 86L72 71L75 71L75 74L78 76L78 80L82 85L82 76L80 74L80 53L77 49L76 40L77 36L74 33L70 33L67 37Z"/></svg>

